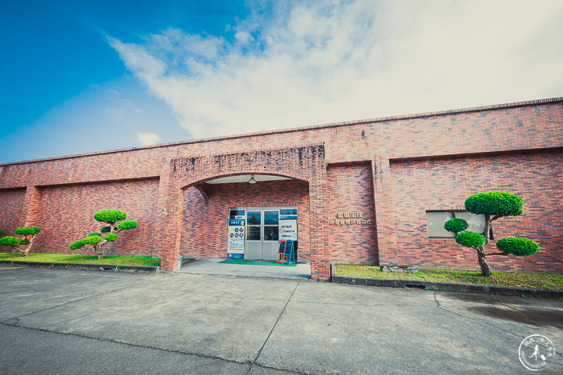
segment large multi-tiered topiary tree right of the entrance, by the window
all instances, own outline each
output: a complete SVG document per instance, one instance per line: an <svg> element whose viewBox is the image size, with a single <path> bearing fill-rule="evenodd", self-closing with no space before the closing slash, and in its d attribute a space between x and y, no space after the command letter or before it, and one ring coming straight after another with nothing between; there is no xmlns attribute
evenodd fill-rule
<svg viewBox="0 0 563 375"><path fill-rule="evenodd" d="M482 234L466 231L468 224L465 220L455 218L444 224L444 229L456 234L455 242L466 248L474 248L477 251L481 275L492 277L493 271L488 265L488 255L517 255L526 256L538 253L540 246L531 239L509 237L497 241L497 248L501 253L485 253L484 246L488 243L491 235L491 224L501 217L521 215L524 201L512 193L504 191L487 191L470 196L465 200L465 210L475 215L485 217L485 229Z"/></svg>

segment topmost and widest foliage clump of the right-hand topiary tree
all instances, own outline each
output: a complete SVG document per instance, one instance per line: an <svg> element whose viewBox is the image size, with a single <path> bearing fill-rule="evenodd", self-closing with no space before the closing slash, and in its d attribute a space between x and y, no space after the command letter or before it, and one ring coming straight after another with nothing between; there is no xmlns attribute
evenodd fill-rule
<svg viewBox="0 0 563 375"><path fill-rule="evenodd" d="M487 191L465 200L465 209L475 215L517 216L523 212L524 201L505 191Z"/></svg>

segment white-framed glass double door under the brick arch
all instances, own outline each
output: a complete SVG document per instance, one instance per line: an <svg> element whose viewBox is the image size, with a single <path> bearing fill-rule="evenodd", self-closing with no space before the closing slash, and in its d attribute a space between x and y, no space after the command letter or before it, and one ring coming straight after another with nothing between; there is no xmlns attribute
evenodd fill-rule
<svg viewBox="0 0 563 375"><path fill-rule="evenodd" d="M279 210L277 208L246 210L244 258L275 260L278 246Z"/></svg>

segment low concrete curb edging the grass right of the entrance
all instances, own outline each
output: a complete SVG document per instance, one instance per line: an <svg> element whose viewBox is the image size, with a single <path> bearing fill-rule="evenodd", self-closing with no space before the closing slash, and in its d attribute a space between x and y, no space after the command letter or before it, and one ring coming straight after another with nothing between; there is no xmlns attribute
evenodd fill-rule
<svg viewBox="0 0 563 375"><path fill-rule="evenodd" d="M374 279L362 277L346 277L336 275L336 266L330 265L331 282L337 284L353 284L363 286L386 286L388 288L419 288L431 291L447 291L461 293L477 293L492 295L512 295L517 297L563 299L563 290L514 288L512 286L491 286L479 284L441 283L420 280Z"/></svg>

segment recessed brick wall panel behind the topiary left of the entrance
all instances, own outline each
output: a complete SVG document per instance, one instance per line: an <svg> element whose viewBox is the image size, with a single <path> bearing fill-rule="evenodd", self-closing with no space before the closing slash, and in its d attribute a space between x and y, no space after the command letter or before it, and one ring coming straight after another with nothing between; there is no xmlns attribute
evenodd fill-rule
<svg viewBox="0 0 563 375"><path fill-rule="evenodd" d="M111 208L127 213L127 218L139 222L137 229L121 231L118 241L103 246L106 255L160 256L155 231L156 193L158 180L108 182L49 186L42 189L37 235L33 251L37 253L70 253L72 242L99 232L104 224L94 220L99 210ZM94 254L82 248L79 253Z"/></svg>

